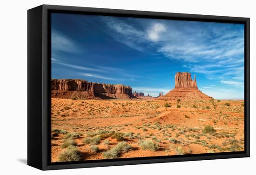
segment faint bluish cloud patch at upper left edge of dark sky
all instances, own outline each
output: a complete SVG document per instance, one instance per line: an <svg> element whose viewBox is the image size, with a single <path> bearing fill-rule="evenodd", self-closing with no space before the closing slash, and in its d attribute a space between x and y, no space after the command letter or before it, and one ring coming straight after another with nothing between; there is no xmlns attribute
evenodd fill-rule
<svg viewBox="0 0 256 175"><path fill-rule="evenodd" d="M80 52L79 47L72 39L54 29L51 31L51 43L53 51Z"/></svg>

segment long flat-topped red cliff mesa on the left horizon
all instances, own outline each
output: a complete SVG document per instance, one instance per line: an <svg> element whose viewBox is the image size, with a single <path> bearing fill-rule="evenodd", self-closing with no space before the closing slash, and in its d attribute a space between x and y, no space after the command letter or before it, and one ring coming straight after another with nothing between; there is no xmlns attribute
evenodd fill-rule
<svg viewBox="0 0 256 175"><path fill-rule="evenodd" d="M51 97L67 99L132 99L132 88L80 79L52 79Z"/></svg>

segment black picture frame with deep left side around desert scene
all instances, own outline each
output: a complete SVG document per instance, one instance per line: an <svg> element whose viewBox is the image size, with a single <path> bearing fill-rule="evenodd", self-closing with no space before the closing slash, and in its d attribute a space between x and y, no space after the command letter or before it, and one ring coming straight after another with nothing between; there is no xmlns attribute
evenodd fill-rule
<svg viewBox="0 0 256 175"><path fill-rule="evenodd" d="M50 13L95 14L154 19L179 19L244 24L244 151L92 160L79 162L50 162ZM41 170L73 169L144 163L180 162L209 159L249 157L249 18L145 12L88 8L75 6L41 5L27 11L27 164Z"/></svg>

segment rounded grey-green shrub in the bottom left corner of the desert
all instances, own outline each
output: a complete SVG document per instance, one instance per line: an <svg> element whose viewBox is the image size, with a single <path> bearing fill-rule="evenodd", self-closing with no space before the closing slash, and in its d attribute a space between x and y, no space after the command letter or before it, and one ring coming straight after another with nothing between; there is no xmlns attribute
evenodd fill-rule
<svg viewBox="0 0 256 175"><path fill-rule="evenodd" d="M59 161L70 162L80 161L83 159L83 154L79 151L76 146L70 145L66 150L63 150L59 156Z"/></svg>

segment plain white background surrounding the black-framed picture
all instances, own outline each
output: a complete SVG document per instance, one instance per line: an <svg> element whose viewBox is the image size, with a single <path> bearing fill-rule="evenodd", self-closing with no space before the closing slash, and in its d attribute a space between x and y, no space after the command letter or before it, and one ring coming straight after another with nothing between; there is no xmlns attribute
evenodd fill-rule
<svg viewBox="0 0 256 175"><path fill-rule="evenodd" d="M0 174L243 175L256 174L255 0L2 0L0 10ZM40 171L27 161L27 9L41 4L250 18L251 157L89 169Z"/></svg>

